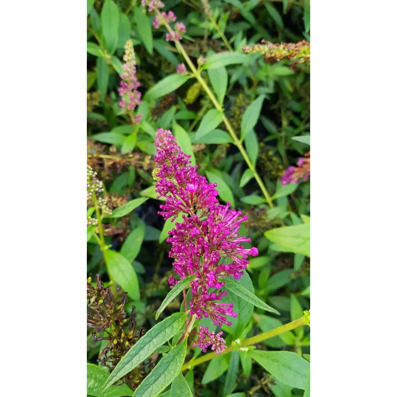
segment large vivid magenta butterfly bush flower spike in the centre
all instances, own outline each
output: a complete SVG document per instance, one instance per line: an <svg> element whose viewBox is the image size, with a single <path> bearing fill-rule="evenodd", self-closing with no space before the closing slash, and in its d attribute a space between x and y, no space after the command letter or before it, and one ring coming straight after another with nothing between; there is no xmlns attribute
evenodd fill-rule
<svg viewBox="0 0 397 397"><path fill-rule="evenodd" d="M257 248L244 248L242 243L251 239L238 233L247 216L231 209L230 202L219 204L216 183L210 184L199 175L197 166L191 165L191 156L182 152L170 131L158 129L154 144L157 198L166 199L158 213L171 221L181 213L183 218L168 232L167 242L172 245L169 256L174 259L174 270L181 280L196 275L191 282L189 314L197 319L209 317L215 326L231 326L226 316L237 317L237 313L233 303L221 302L227 292L219 289L225 285L223 277L240 279L249 264L248 256L258 255ZM173 288L178 281L171 276L169 283ZM219 353L225 346L220 335L200 328L196 344L203 349L212 344Z"/></svg>

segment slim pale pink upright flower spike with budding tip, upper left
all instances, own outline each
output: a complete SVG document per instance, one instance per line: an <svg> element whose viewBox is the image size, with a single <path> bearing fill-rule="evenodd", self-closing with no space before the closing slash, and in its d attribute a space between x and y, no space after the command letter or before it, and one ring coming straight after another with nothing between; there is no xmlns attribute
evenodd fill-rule
<svg viewBox="0 0 397 397"><path fill-rule="evenodd" d="M140 83L136 77L135 52L131 40L127 41L124 49L125 54L123 60L125 63L123 64L124 73L120 75L122 81L120 81L119 87L119 94L121 96L119 106L123 113L130 113L130 111L134 110L142 101L140 99L141 93L137 90ZM141 119L141 114L132 117L132 123L139 124Z"/></svg>

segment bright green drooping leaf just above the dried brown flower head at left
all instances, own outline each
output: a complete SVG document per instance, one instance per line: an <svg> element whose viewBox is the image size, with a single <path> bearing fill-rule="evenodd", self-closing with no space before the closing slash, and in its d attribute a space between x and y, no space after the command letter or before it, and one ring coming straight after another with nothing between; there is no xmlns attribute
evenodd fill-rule
<svg viewBox="0 0 397 397"><path fill-rule="evenodd" d="M138 277L131 263L113 250L106 250L104 256L110 276L128 292L132 300L138 301L140 299Z"/></svg>

